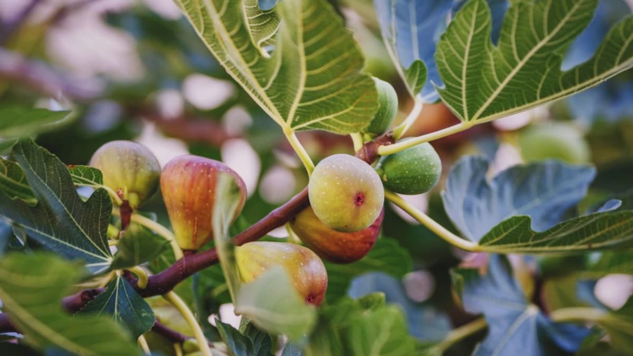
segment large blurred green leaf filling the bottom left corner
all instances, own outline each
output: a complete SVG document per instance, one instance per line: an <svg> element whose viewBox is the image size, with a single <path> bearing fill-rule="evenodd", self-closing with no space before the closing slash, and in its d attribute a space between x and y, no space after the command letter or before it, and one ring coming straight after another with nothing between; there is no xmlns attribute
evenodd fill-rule
<svg viewBox="0 0 633 356"><path fill-rule="evenodd" d="M0 260L3 311L38 350L61 348L85 356L139 356L129 335L107 317L71 316L61 298L84 276L76 263L45 253L14 253ZM106 342L104 342L106 340Z"/></svg>

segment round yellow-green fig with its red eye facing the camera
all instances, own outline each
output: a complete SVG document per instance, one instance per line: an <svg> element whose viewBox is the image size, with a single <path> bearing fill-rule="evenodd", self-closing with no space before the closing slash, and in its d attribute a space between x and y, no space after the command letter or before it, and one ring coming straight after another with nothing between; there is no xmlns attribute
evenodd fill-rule
<svg viewBox="0 0 633 356"><path fill-rule="evenodd" d="M372 166L350 155L332 155L316 165L308 183L310 205L325 226L354 232L374 222L385 200Z"/></svg>

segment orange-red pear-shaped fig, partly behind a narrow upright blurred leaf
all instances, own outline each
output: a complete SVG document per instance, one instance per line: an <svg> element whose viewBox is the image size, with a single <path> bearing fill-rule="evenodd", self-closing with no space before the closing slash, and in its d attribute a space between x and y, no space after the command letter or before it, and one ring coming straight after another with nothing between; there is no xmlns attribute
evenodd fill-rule
<svg viewBox="0 0 633 356"><path fill-rule="evenodd" d="M163 200L176 241L183 250L197 250L213 239L215 186L222 173L232 175L241 190L235 219L246 202L246 186L227 165L210 158L182 155L163 168L160 177Z"/></svg>

